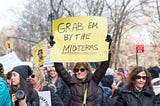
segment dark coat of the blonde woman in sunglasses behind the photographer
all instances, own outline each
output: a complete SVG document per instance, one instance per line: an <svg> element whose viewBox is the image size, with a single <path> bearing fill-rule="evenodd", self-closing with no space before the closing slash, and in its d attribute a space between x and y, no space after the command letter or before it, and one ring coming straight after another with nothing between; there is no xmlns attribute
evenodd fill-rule
<svg viewBox="0 0 160 106"><path fill-rule="evenodd" d="M64 106L62 100L59 98L59 96L57 94L55 94L55 92L52 88L49 88L48 86L44 86L42 91L50 91L51 92L52 106Z"/></svg>

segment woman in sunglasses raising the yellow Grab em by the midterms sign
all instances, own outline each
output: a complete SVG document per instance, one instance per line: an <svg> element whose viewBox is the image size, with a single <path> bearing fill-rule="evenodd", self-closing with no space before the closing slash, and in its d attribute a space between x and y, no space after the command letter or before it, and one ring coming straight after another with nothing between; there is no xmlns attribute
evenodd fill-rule
<svg viewBox="0 0 160 106"><path fill-rule="evenodd" d="M110 57L111 55L108 61L101 62L94 74L91 73L91 66L87 62L77 62L73 68L75 74L72 76L62 63L54 63L57 73L70 88L70 106L98 106L98 85L109 67Z"/></svg>

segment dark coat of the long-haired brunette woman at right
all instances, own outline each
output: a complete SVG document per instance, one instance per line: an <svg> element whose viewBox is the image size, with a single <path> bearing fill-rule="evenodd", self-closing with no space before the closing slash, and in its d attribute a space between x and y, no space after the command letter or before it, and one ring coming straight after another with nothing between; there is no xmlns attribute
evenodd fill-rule
<svg viewBox="0 0 160 106"><path fill-rule="evenodd" d="M123 88L113 104L115 104L113 106L155 106L155 94L148 87L141 92Z"/></svg>

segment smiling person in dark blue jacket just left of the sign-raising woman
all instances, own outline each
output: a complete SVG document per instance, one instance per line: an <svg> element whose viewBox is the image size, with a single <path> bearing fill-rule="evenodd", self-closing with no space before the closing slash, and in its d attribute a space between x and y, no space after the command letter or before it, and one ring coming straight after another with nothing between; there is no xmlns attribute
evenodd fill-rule
<svg viewBox="0 0 160 106"><path fill-rule="evenodd" d="M48 67L50 70L48 77L49 86L54 85L56 87L56 94L61 98L64 106L70 105L71 93L68 86L63 82L63 80L58 76L54 66Z"/></svg>

